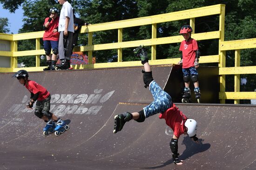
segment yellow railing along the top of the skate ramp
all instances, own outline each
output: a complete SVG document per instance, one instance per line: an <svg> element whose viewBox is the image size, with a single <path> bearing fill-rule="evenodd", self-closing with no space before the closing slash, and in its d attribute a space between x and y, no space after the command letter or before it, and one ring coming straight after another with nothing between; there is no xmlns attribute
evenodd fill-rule
<svg viewBox="0 0 256 170"><path fill-rule="evenodd" d="M163 37L157 38L157 24L181 19L189 19L190 25L195 30L195 18L204 17L209 15L219 15L219 30L211 31L211 32L202 32L193 34L193 38L196 40L206 40L206 39L219 39L219 53L218 55L212 56L202 56L200 57L200 63L218 63L219 65L219 75L220 75L220 93L219 99L221 103L225 103L225 99L243 99L242 92L238 92L237 89L239 86L239 74L242 74L241 69L246 68L248 72L246 74L255 74L249 67L239 67L240 66L240 49L243 48L255 48L255 44L253 44L254 39L249 40L241 40L241 41L224 41L224 22L225 22L225 5L213 5L213 6L205 6L201 8L189 9L174 13L165 13L148 17L141 17L135 19L127 19L121 21L114 21L108 23L94 24L88 26L82 26L81 33L88 34L88 45L75 47L75 51L88 51L89 64L75 66L74 69L86 69L86 68L106 68L106 67L127 67L127 66L138 66L141 65L140 61L131 61L131 62L122 62L122 49L123 48L132 48L137 47L141 44L145 46L151 46L151 60L149 63L151 65L156 64L171 64L178 63L180 58L170 58L170 59L156 59L157 51L156 45L159 44L171 44L171 43L180 43L183 40L182 36L171 36L171 37ZM122 39L122 31L123 28L135 27L141 25L151 25L152 28L152 36L150 39L144 40L135 40L135 41L126 41L124 42ZM117 30L118 32L118 41L116 43L108 43L108 44L93 44L93 33L96 31L106 31L106 30ZM15 72L19 70L17 68L17 57L22 56L36 56L36 67L25 68L27 71L41 71L44 67L40 67L40 55L44 55L45 51L40 49L40 38L42 38L44 31L38 32L29 32L29 33L21 33L21 34L0 34L0 40L10 41L11 51L0 51L0 56L11 57L11 65L10 68L0 68L0 72ZM18 51L17 43L19 40L26 39L35 39L36 47L35 50L27 50L27 51ZM246 43L249 43L246 45ZM237 45L238 44L238 45ZM240 45L241 44L241 45ZM244 44L244 45L243 45ZM238 46L238 47L237 47ZM231 48L231 49L230 49ZM234 68L226 68L226 50L236 50L236 66ZM238 48L238 49L236 49ZM114 63L94 63L92 64L92 56L94 50L111 50L116 49L118 54L118 61ZM235 74L235 89L236 92L225 92L225 75ZM238 77L238 78L237 78ZM249 96L247 99L256 99L256 92L243 92L246 93L246 96ZM246 97L245 97L246 98ZM238 103L235 101L235 103Z"/></svg>

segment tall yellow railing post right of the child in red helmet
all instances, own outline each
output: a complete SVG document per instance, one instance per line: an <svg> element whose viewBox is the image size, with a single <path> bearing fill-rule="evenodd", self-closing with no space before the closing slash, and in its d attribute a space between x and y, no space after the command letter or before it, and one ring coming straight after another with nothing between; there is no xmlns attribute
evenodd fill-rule
<svg viewBox="0 0 256 170"><path fill-rule="evenodd" d="M219 55L220 55L220 60L219 60L219 67L226 67L226 51L221 51L220 50L220 44L222 41L224 41L224 25L225 25L225 5L221 6L221 13L220 13L220 20L219 20L219 31L220 31L220 38L219 38ZM226 76L221 75L220 76L220 92L225 92L225 87L226 87ZM225 99L221 99L220 103L224 104Z"/></svg>

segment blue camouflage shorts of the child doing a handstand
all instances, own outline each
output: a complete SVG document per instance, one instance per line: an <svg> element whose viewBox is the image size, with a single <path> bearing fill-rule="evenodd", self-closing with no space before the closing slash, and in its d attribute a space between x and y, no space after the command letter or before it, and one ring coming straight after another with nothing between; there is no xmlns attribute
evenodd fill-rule
<svg viewBox="0 0 256 170"><path fill-rule="evenodd" d="M144 107L145 118L157 113L163 113L172 106L172 98L155 81L149 84L149 90L154 97L154 101Z"/></svg>

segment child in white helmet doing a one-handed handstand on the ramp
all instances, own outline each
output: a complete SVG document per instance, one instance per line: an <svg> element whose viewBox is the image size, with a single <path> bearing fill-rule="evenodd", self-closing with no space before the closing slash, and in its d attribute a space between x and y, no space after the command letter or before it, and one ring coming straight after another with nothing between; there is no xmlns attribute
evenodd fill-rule
<svg viewBox="0 0 256 170"><path fill-rule="evenodd" d="M143 82L145 88L149 87L151 94L154 97L154 101L147 107L144 107L141 111L135 113L121 113L115 115L114 133L122 130L126 122L130 120L136 120L137 122L143 122L149 116L160 113L159 118L165 119L166 124L174 131L173 138L170 141L170 149L172 151L172 157L174 164L181 165L182 160L179 160L178 153L178 139L182 134L188 134L189 137L198 142L196 137L197 123L193 119L188 119L178 107L171 101L171 96L166 93L160 86L154 81L152 77L152 71L148 63L148 57L146 49L143 46L139 46L134 50L135 55L141 58L141 63L144 65Z"/></svg>

